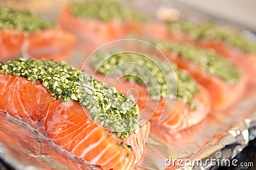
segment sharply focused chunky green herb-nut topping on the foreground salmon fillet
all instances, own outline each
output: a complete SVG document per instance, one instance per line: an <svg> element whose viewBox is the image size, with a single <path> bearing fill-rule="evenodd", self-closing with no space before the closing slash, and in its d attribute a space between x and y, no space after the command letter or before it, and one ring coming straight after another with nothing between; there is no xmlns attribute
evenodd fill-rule
<svg viewBox="0 0 256 170"><path fill-rule="evenodd" d="M109 88L66 62L19 58L0 62L0 73L40 81L56 99L77 101L90 110L94 122L120 138L127 138L133 129L136 132L140 127L139 108L132 97Z"/></svg>

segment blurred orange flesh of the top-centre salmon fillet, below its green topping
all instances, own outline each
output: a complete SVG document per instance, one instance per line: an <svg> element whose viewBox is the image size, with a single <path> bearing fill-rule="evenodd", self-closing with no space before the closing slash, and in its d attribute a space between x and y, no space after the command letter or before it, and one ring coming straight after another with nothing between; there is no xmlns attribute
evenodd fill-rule
<svg viewBox="0 0 256 170"><path fill-rule="evenodd" d="M81 50L88 54L109 41L128 38L133 32L138 31L140 27L140 24L135 20L122 21L113 19L104 21L97 18L77 17L72 14L70 6L63 8L59 22L64 29L76 36Z"/></svg>

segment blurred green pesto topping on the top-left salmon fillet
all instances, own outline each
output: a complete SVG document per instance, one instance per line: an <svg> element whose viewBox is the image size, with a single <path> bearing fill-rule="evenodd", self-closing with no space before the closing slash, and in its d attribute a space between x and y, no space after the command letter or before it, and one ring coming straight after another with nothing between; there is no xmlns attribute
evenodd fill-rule
<svg viewBox="0 0 256 170"><path fill-rule="evenodd" d="M28 11L13 11L0 7L0 29L34 32L52 27L54 27L53 24Z"/></svg>

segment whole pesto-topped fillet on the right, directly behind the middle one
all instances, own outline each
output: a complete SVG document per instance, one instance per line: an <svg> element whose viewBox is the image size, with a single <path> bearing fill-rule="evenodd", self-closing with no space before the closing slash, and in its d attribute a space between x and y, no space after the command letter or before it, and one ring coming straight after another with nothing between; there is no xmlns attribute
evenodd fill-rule
<svg viewBox="0 0 256 170"><path fill-rule="evenodd" d="M155 45L168 60L188 71L209 91L212 109L225 110L243 96L247 82L243 71L216 52L171 41L159 41Z"/></svg>

